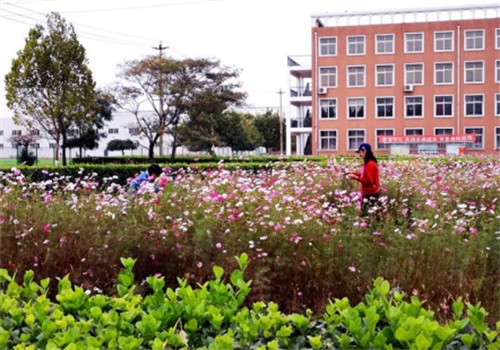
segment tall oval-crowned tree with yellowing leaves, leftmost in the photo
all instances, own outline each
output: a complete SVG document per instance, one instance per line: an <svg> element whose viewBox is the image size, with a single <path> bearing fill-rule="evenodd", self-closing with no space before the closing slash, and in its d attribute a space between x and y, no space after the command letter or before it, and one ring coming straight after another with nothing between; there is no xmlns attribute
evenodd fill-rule
<svg viewBox="0 0 500 350"><path fill-rule="evenodd" d="M73 26L53 12L47 15L47 28L32 28L5 76L5 86L14 122L52 137L56 161L62 145L66 165L68 131L91 123L96 101L85 48Z"/></svg>

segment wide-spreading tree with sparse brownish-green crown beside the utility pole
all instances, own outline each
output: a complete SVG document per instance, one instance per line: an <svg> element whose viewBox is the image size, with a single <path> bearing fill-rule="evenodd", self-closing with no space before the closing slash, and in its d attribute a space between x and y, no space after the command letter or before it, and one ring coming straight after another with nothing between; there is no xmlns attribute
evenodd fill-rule
<svg viewBox="0 0 500 350"><path fill-rule="evenodd" d="M154 159L154 147L162 135L172 138L171 157L175 158L178 127L196 113L200 117L199 106L220 114L241 103L245 94L236 91L238 74L217 60L151 56L125 62L119 75L123 83L115 86L115 98L120 108L135 116L136 124L131 127L148 139L149 158ZM144 104L153 112L145 114ZM203 115L209 114L203 111Z"/></svg>

